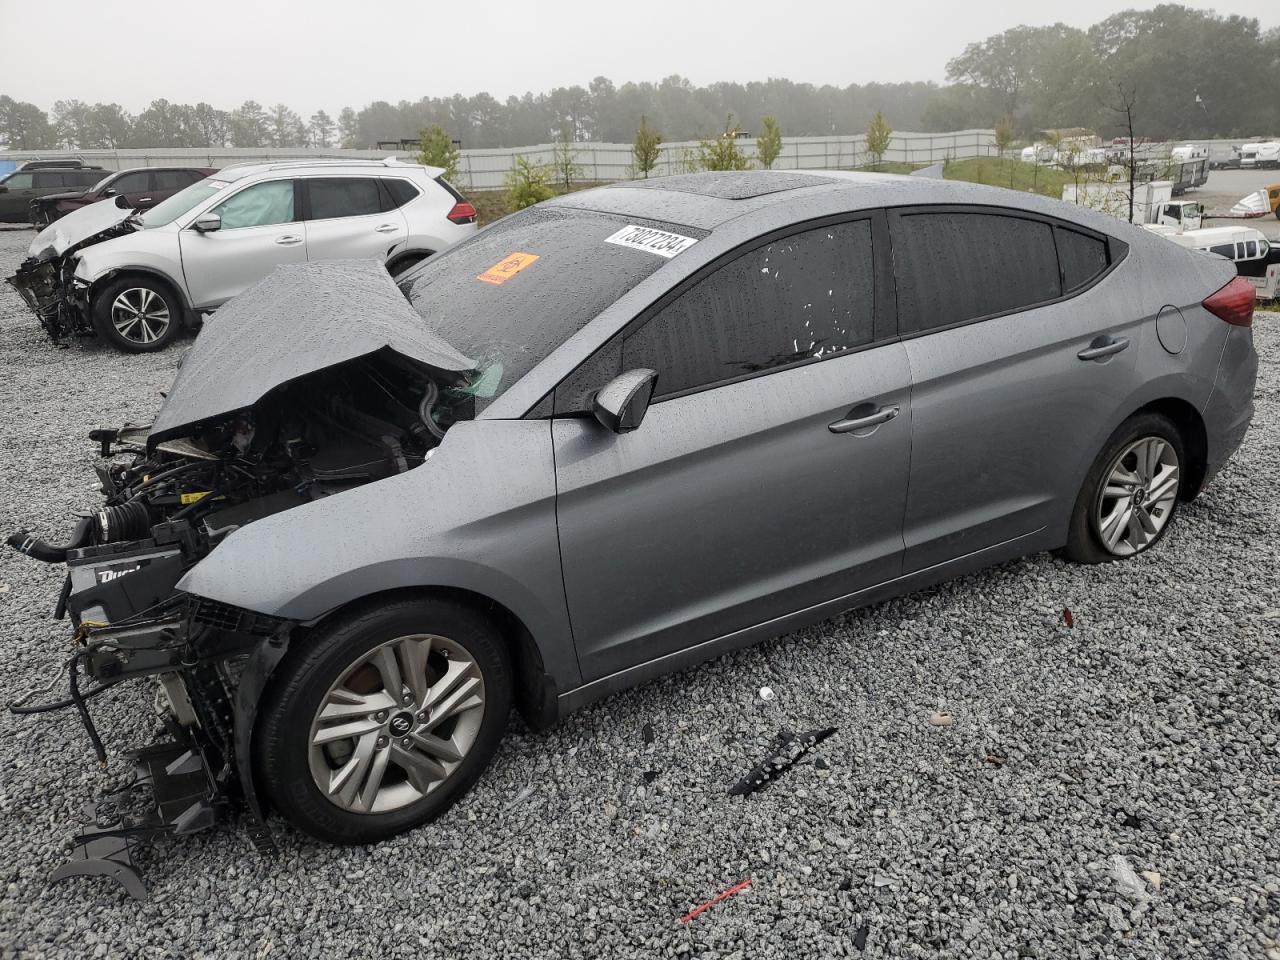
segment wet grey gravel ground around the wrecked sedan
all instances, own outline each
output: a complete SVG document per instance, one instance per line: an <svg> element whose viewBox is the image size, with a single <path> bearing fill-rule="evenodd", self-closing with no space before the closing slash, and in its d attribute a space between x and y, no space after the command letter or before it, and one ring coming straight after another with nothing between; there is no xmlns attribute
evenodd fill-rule
<svg viewBox="0 0 1280 960"><path fill-rule="evenodd" d="M0 233L0 273L29 236ZM1030 557L548 733L513 721L468 797L376 847L280 827L262 859L228 826L157 850L146 904L49 888L100 774L70 713L4 714L0 955L1277 960L1280 315L1254 330L1253 430L1153 553ZM58 351L0 289L0 530L93 503L83 434L147 417L184 348ZM59 584L0 554L5 699L65 655ZM96 703L109 749L148 733L141 686ZM778 782L727 795L780 728L826 726Z"/></svg>

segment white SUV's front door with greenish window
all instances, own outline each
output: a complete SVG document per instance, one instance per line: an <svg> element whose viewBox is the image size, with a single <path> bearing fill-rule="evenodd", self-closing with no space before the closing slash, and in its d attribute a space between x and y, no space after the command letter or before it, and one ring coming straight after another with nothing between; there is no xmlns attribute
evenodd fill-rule
<svg viewBox="0 0 1280 960"><path fill-rule="evenodd" d="M282 264L306 262L292 179L259 180L209 210L221 229L179 232L182 269L196 308L212 308L257 283Z"/></svg>

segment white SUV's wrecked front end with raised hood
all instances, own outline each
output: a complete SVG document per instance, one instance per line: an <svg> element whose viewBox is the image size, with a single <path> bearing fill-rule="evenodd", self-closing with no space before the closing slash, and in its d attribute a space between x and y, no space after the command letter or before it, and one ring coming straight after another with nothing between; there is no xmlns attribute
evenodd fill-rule
<svg viewBox="0 0 1280 960"><path fill-rule="evenodd" d="M73 335L92 332L88 287L76 278L77 253L133 233L133 216L123 197L76 210L37 233L27 259L8 278L54 343L65 344Z"/></svg>

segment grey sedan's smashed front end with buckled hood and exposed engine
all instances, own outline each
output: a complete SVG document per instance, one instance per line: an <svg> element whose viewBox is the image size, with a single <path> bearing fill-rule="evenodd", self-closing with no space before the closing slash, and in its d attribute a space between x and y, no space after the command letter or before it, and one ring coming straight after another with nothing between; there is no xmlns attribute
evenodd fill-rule
<svg viewBox="0 0 1280 960"><path fill-rule="evenodd" d="M133 751L136 780L97 805L55 879L114 876L141 896L138 840L212 826L239 800L270 844L252 724L305 625L192 595L183 577L256 520L422 463L472 416L472 366L422 328L380 265L284 268L205 328L150 428L90 434L106 460L102 504L64 544L26 530L9 544L67 564L54 616L70 620L76 646L70 695L54 705L78 710L105 763L87 700L151 677L169 741Z"/></svg>

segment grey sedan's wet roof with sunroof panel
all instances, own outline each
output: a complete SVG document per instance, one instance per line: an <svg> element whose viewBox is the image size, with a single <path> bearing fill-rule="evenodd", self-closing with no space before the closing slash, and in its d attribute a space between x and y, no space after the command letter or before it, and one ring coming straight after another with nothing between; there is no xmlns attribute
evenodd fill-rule
<svg viewBox="0 0 1280 960"><path fill-rule="evenodd" d="M1025 210L1075 221L1101 233L1128 233L1112 216L1037 193L966 180L849 170L741 170L654 177L566 193L541 206L593 210L716 230L755 219L777 225L788 209L796 220L878 207L966 204ZM741 224L740 224L741 225Z"/></svg>

